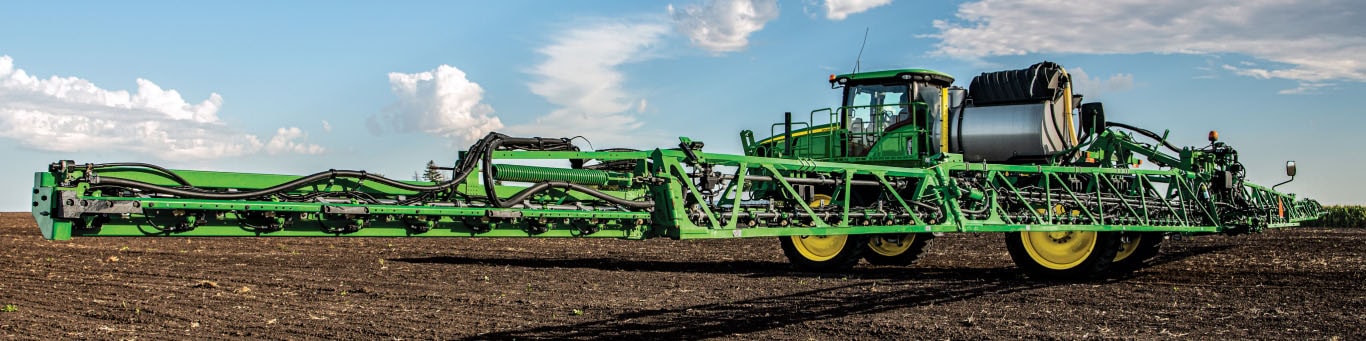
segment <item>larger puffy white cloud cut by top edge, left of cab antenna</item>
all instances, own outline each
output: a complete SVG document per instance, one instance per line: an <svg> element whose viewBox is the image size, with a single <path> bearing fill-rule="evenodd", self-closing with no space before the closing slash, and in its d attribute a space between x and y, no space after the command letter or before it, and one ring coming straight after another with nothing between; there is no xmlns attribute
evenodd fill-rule
<svg viewBox="0 0 1366 341"><path fill-rule="evenodd" d="M706 0L701 5L668 7L673 25L694 45L714 52L742 50L750 34L777 19L777 0Z"/></svg>

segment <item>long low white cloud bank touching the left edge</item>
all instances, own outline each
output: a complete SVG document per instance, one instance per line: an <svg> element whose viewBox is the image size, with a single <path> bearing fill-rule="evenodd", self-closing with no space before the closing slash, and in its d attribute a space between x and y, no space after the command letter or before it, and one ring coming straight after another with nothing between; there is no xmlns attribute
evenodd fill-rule
<svg viewBox="0 0 1366 341"><path fill-rule="evenodd" d="M137 85L128 93L75 76L40 79L15 67L12 57L0 56L0 138L37 150L133 151L161 160L234 157L266 147L255 135L219 120L219 94L191 104L152 80L137 79ZM281 143L291 147L280 153L324 151L299 138L285 138Z"/></svg>

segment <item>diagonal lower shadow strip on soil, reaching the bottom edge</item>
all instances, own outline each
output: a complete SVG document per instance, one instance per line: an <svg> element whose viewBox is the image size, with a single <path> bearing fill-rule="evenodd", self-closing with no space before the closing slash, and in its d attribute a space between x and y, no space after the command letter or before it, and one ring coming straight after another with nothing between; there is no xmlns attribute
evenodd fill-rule
<svg viewBox="0 0 1366 341"><path fill-rule="evenodd" d="M1022 281L1012 269L1005 267L917 271L907 277L918 277L930 285L897 285L907 289L889 289L885 284L861 281L728 303L623 312L582 323L507 330L470 340L660 340L680 336L710 338L780 329L809 321L1008 295L1052 285Z"/></svg>

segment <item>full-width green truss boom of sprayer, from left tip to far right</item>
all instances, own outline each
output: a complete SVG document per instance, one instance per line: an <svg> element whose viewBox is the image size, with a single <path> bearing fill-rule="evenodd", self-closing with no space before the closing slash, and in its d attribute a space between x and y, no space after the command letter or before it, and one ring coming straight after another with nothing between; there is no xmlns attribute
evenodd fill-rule
<svg viewBox="0 0 1366 341"><path fill-rule="evenodd" d="M687 142L684 139L684 142ZM1191 157L1191 155L1187 155ZM615 239L723 239L796 235L863 235L912 232L1124 231L1231 232L1292 226L1315 218L1313 201L1247 184L1262 214L1228 221L1202 199L1202 173L1168 169L1101 166L994 165L956 161L947 155L928 168L841 164L814 160L764 158L693 150L650 151L494 151L494 160L630 160L632 173L612 173L617 198L649 198L652 210L624 210L596 205L591 198L555 191L537 195L525 207L494 209L445 202L387 205L350 202L208 201L164 196L120 196L89 181L86 169L36 175L34 217L44 237L71 236L430 236L430 237L615 237ZM535 173L535 168L520 166ZM725 175L710 169L732 169ZM549 169L546 169L549 170ZM593 170L576 170L587 173ZM93 172L98 177L133 179L161 186L176 183L137 168ZM201 188L250 191L298 179L285 175L175 170ZM526 172L523 172L526 173ZM724 179L714 188L701 177ZM607 179L607 173L602 173ZM546 173L555 179L555 173ZM447 198L482 196L475 175L444 194ZM743 179L743 180L738 180ZM975 179L975 184L963 183ZM1020 184L1033 179L1033 190ZM525 175L519 180L527 180ZM596 180L593 180L596 181ZM624 181L624 183L623 183ZM807 205L809 184L822 183L829 207ZM70 186L63 186L67 183ZM421 181L413 181L421 184ZM1078 186L1078 184L1082 186ZM1071 186L1063 186L1071 184ZM855 187L858 190L855 191ZM1079 190L1081 188L1081 190ZM1162 191L1157 191L1161 190ZM508 196L520 190L499 186ZM378 183L335 179L302 187L294 194L359 191L376 198L402 198L414 191ZM1048 194L1044 198L1038 194ZM744 196L762 195L747 205ZM863 198L855 198L863 196ZM881 207L859 207L856 201L880 198ZM1085 198L1119 198L1087 202ZM1055 203L1056 202L1056 203ZM1060 207L1065 202L1065 207ZM1029 214L1004 207L1024 205ZM559 206L556 206L559 205ZM544 207L541 207L544 206ZM555 206L555 207L552 207ZM917 207L934 207L933 210ZM1279 210L1277 210L1279 207ZM936 213L938 211L938 213ZM1109 211L1111 214L1102 214ZM1253 221L1250 221L1253 220ZM262 228L275 222L279 228ZM173 228L183 225L182 228Z"/></svg>

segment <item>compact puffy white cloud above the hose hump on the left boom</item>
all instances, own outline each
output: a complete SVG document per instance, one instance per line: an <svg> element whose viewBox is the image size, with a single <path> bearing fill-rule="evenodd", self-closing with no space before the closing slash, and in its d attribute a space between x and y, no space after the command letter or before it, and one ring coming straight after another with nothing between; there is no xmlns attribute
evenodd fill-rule
<svg viewBox="0 0 1366 341"><path fill-rule="evenodd" d="M389 72L398 102L366 120L372 132L426 132L473 142L503 128L493 106L484 104L484 87L464 71L440 65L417 74Z"/></svg>

